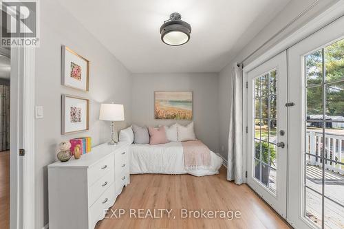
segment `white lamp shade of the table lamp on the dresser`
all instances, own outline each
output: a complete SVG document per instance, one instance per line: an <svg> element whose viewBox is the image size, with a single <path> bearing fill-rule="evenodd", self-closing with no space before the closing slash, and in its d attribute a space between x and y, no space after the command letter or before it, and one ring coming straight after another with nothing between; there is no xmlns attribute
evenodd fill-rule
<svg viewBox="0 0 344 229"><path fill-rule="evenodd" d="M121 104L103 103L100 105L99 119L104 121L124 121L125 109Z"/></svg>

